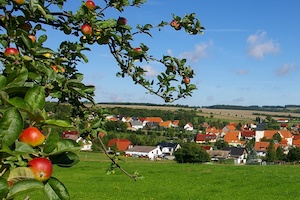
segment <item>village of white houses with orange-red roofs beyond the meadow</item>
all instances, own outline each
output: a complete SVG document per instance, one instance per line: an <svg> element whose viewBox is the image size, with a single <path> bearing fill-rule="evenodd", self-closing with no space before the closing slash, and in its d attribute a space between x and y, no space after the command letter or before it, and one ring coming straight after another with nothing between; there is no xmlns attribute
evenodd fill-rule
<svg viewBox="0 0 300 200"><path fill-rule="evenodd" d="M108 116L108 121L122 121L126 124L127 130L138 131L145 127L153 128L160 127L164 129L179 128L179 120L163 121L161 117L118 117ZM184 131L190 132L194 137L191 142L199 144L210 155L212 162L220 162L228 159L233 160L234 164L246 164L248 153L246 143L253 141L253 149L256 153L256 159L252 163L263 163L263 158L267 154L270 140L277 135L275 140L275 149L281 147L284 154L287 155L290 148L300 147L300 135L298 134L298 126L293 125L288 127L288 119L282 118L276 121L279 124L279 130L265 130L264 123L247 123L242 127L237 127L238 124L231 122L221 129L210 126L208 123L203 123L205 131L199 131L194 128L190 122L183 127ZM238 130L237 128L241 129ZM100 136L100 135L99 135ZM70 138L82 144L82 151L92 151L92 141L83 140L79 137L76 131L65 131L63 138ZM104 137L104 135L101 135ZM186 142L186 141L182 141ZM221 149L217 149L214 144L222 142L227 144ZM169 159L174 160L174 152L181 148L180 142L159 142L156 146L141 146L133 145L126 138L114 138L107 144L107 151L118 154L122 153L125 156L148 158L149 160Z"/></svg>

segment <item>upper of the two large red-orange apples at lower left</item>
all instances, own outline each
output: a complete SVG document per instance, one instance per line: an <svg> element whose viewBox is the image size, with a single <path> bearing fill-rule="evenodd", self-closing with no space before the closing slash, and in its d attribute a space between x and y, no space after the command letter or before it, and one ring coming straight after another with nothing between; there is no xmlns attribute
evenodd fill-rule
<svg viewBox="0 0 300 200"><path fill-rule="evenodd" d="M44 143L45 136L36 127L28 127L24 129L19 136L19 140L32 147L39 146Z"/></svg>

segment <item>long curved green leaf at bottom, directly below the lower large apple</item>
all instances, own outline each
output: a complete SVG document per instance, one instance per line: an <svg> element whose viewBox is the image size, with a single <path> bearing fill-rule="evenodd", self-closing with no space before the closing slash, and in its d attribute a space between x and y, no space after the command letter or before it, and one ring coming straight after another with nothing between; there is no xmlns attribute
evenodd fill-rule
<svg viewBox="0 0 300 200"><path fill-rule="evenodd" d="M19 181L9 189L7 199L13 199L17 195L26 194L35 190L44 189L44 184L37 180L22 180Z"/></svg>

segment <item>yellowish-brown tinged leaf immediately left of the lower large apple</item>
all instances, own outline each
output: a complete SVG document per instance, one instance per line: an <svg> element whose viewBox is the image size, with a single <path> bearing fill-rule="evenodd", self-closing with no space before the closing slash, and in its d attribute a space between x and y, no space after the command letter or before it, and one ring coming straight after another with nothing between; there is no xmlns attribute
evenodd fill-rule
<svg viewBox="0 0 300 200"><path fill-rule="evenodd" d="M12 169L7 178L8 181L13 183L17 183L26 179L34 179L33 172L28 167L17 167Z"/></svg>

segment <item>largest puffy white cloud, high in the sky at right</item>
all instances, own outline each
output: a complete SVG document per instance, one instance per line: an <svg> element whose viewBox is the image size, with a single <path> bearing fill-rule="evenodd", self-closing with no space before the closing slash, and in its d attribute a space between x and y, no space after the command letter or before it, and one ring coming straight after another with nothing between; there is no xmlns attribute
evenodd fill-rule
<svg viewBox="0 0 300 200"><path fill-rule="evenodd" d="M248 54L254 58L262 59L266 54L276 54L280 51L279 44L267 39L265 31L257 31L247 38Z"/></svg>

